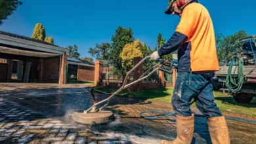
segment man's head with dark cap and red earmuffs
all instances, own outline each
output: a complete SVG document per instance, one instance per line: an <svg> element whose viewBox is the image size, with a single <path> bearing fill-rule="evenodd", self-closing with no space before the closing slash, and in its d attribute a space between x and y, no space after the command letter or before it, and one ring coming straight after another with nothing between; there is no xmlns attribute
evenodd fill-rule
<svg viewBox="0 0 256 144"><path fill-rule="evenodd" d="M181 15L182 9L188 5L188 3L195 0L169 0L169 5L165 10L165 14ZM196 1L198 2L198 1Z"/></svg>

